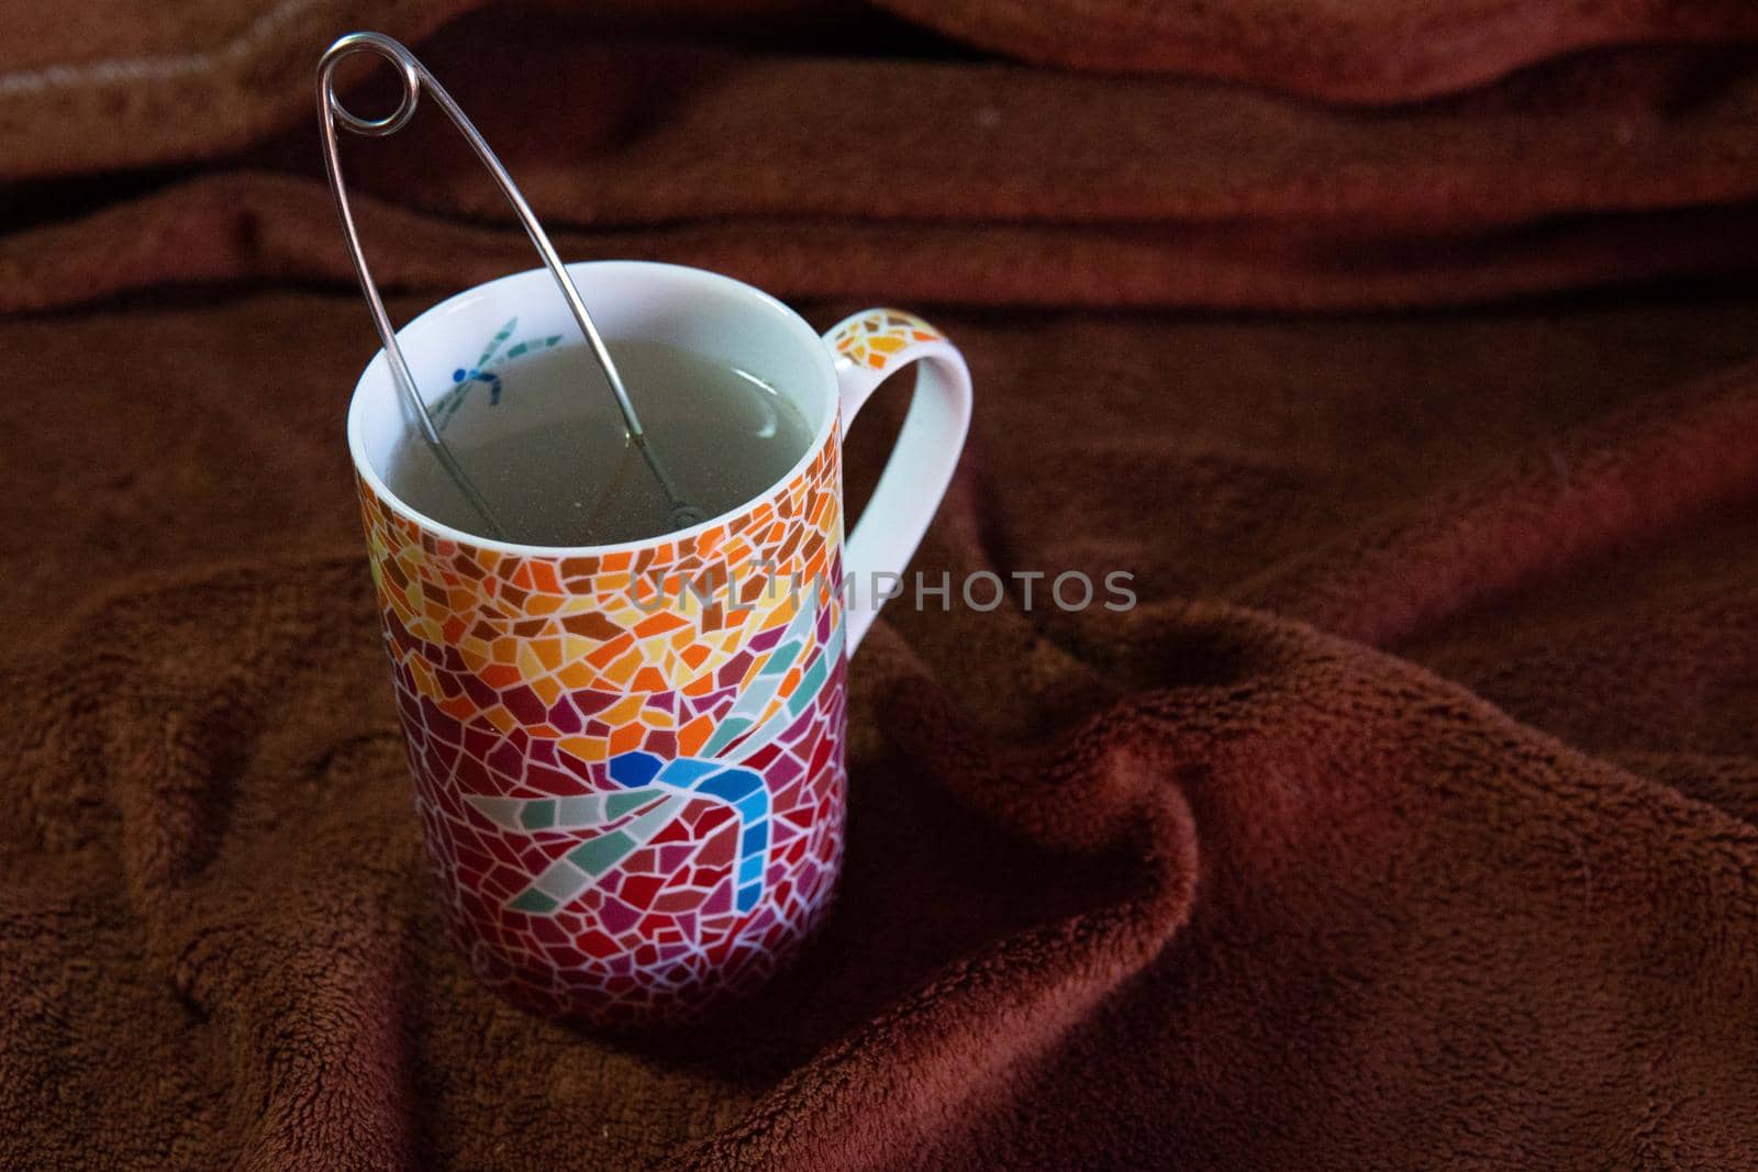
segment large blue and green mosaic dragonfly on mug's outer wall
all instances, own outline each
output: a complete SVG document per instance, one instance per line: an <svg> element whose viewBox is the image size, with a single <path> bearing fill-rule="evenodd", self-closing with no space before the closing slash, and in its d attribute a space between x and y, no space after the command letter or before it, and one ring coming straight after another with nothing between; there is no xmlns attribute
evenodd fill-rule
<svg viewBox="0 0 1758 1172"><path fill-rule="evenodd" d="M466 798L471 808L503 831L582 833L578 845L557 856L524 891L506 901L510 910L554 915L585 894L601 875L645 847L691 801L703 798L730 807L735 815L733 907L749 912L758 905L768 859L770 794L763 775L744 761L807 710L842 655L840 622L832 626L825 643L816 640L816 594L817 590L807 590L775 650L733 701L698 756L666 761L643 750L617 754L607 766L614 789L592 794ZM798 682L782 698L782 684L795 668L800 669ZM763 719L777 698L781 705Z"/></svg>

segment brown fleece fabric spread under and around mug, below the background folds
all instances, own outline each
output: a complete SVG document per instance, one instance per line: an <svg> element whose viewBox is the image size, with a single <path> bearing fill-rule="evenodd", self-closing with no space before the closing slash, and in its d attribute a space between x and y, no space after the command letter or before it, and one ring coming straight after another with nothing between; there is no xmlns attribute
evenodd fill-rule
<svg viewBox="0 0 1758 1172"><path fill-rule="evenodd" d="M633 1040L434 921L355 299L5 325L65 373L5 464L5 1161L1739 1165L1758 397L1696 373L1758 306L941 316L988 395L918 568L1143 604L888 611L826 935Z"/></svg>

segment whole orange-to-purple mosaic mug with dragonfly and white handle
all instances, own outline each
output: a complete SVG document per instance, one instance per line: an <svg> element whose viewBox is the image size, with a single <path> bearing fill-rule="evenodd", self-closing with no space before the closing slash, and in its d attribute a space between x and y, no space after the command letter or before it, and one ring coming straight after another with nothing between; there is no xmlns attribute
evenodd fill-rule
<svg viewBox="0 0 1758 1172"><path fill-rule="evenodd" d="M884 601L875 575L902 573L946 492L970 376L907 313L819 337L712 272L570 271L607 339L772 383L812 429L800 462L735 511L647 541L473 536L385 483L406 423L383 351L355 387L348 446L447 924L510 1000L628 1023L749 989L823 917L842 863L847 655ZM397 337L438 402L466 380L515 385L522 351L573 330L534 269ZM916 395L844 548L842 434L905 364Z"/></svg>

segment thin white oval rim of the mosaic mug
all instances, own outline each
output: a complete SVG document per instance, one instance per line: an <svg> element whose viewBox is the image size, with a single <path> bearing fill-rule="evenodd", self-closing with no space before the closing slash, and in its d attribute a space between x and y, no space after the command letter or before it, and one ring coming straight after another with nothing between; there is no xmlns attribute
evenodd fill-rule
<svg viewBox="0 0 1758 1172"><path fill-rule="evenodd" d="M814 353L814 360L821 367L821 376L823 376L817 380L817 385L823 388L821 394L825 394L830 399L830 409L825 411L825 418L819 423L817 430L812 434L812 441L807 443L805 452L800 455L798 460L795 460L795 464L786 473L782 473L775 481L772 481L761 492L756 492L751 497L735 504L733 508L723 513L716 513L714 517L708 517L707 520L689 525L687 529L673 529L668 532L654 534L650 538L636 538L633 541L615 541L608 545L533 545L526 541L503 541L499 538L490 538L487 534L466 532L462 529L457 529L455 525L447 525L445 522L436 520L427 513L422 513L408 501L399 497L396 492L392 492L390 485L383 481L383 478L378 474L378 469L373 467L373 462L366 457L366 441L360 432L364 429L362 402L367 394L373 394L367 388L367 383L374 378L383 378L383 380L394 378L390 374L390 358L385 355L383 346L380 346L373 353L371 360L367 360L366 367L360 371L360 376L355 380L353 385L353 394L348 397L348 422L346 422L348 455L353 460L355 476L364 480L367 488L371 488L373 496L389 504L399 517L418 525L422 532L431 532L438 539L455 541L459 545L469 545L480 550L492 550L496 553L512 553L515 557L601 557L605 553L636 552L649 546L665 545L668 541L687 541L698 534L703 534L710 529L726 524L726 520L731 517L738 517L740 513L751 511L752 508L774 497L777 492L784 492L788 485L791 485L802 473L805 473L805 469L809 469L812 462L817 459L817 455L825 450L825 443L830 441L832 432L835 430L840 420L840 409L837 404L837 390L835 390L837 388L835 360L832 358L830 344L825 343L825 339L817 334L817 330L814 330L805 318L802 318L793 307L777 299L774 293L765 293L758 286L740 281L738 278L730 278L724 272L712 272L708 269L696 269L693 265L675 265L663 260L573 260L568 262L566 269L570 276L573 276L575 271L580 269L622 269L635 278L645 278L647 274L652 274L656 271L680 274L686 276L687 279L721 285L723 288L737 293L742 300L749 300L752 309L759 313L775 315L781 320L782 327L791 334L795 334L802 341L802 344ZM545 281L552 281L548 269L536 267L536 269L524 269L520 272L508 272L506 276L498 276L480 285L471 285L469 288L461 290L447 297L445 300L429 306L427 309L422 309L418 315L404 322L403 327L397 329L397 341L406 344L404 339L406 330L415 329L431 316L450 311L464 299L482 297L483 293L496 290L496 286L510 285L515 281L529 281L533 278L543 278ZM584 344L584 339L580 341L580 344ZM397 394L396 385L390 387L390 394L392 395Z"/></svg>

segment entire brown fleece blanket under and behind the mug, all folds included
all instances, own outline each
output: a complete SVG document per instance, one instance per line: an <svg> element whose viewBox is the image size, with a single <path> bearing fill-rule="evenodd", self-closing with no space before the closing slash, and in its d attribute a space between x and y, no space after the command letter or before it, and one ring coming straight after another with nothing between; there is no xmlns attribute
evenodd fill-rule
<svg viewBox="0 0 1758 1172"><path fill-rule="evenodd" d="M1106 40L1123 5L1046 9L1086 40L1004 9L933 19L1195 67L1164 23ZM1754 260L1740 51L1340 112L803 4L425 42L564 251L723 267L817 325L893 299L967 348L919 569L1143 599L888 611L825 935L740 1012L612 1040L476 988L422 887L341 443L373 343L304 125L339 18L79 40L39 11L0 9L33 32L0 35L0 165L33 176L0 237L0 1165L1753 1161L1758 297L1702 279ZM1253 77L1348 74L1218 11L1167 9ZM1415 95L1515 63L1538 9L1420 39L1463 74L1396 56L1415 5L1278 11L1364 12ZM1744 11L1568 5L1531 51ZM42 72L76 40L176 86L104 137L91 76ZM350 153L399 318L529 264L411 135ZM47 177L98 163L156 169ZM1684 279L1468 304L1653 276ZM1426 309L1287 313L1315 306Z"/></svg>

